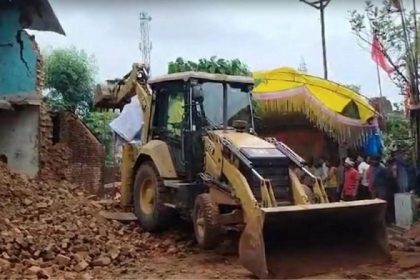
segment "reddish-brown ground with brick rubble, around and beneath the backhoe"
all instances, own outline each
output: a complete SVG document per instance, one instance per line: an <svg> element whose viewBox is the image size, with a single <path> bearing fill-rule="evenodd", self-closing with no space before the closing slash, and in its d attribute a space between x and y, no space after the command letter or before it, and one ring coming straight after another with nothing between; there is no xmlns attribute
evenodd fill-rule
<svg viewBox="0 0 420 280"><path fill-rule="evenodd" d="M104 219L113 203L67 182L37 181L0 165L0 275L7 279L255 279L234 242L211 252L190 226L163 234ZM418 278L420 225L389 229L392 261L317 279Z"/></svg>

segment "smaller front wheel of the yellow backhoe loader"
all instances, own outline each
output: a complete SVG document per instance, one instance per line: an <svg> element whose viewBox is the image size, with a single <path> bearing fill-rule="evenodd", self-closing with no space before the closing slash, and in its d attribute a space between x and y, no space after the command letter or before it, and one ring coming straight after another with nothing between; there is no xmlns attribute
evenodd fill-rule
<svg viewBox="0 0 420 280"><path fill-rule="evenodd" d="M194 233L198 245L205 250L216 248L221 242L222 231L218 222L219 211L209 194L197 196L194 205Z"/></svg>

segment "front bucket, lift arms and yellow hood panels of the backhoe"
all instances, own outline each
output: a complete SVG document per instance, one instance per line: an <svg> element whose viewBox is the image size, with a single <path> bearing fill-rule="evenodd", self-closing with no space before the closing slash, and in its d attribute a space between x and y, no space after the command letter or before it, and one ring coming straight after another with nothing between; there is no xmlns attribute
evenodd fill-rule
<svg viewBox="0 0 420 280"><path fill-rule="evenodd" d="M261 200L257 201L238 168L237 159L223 153L223 138L237 149L275 146L254 135L235 131L210 131L204 137L205 172L215 180L225 180L231 187L232 200L210 190L212 200L221 204L239 200L240 223L244 224L239 258L248 270L260 278L290 278L389 259L384 201L329 203L322 182L305 170L315 182L310 187L317 204L311 204L292 169L289 176L293 205L277 206L273 186L264 178ZM360 235L360 239L354 235ZM290 245L294 242L296 245Z"/></svg>

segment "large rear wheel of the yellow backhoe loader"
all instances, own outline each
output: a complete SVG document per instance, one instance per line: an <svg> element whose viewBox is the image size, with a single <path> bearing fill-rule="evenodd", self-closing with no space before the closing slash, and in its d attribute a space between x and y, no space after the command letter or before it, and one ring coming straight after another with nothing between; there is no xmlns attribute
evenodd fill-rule
<svg viewBox="0 0 420 280"><path fill-rule="evenodd" d="M173 209L164 205L165 187L152 162L142 163L134 180L134 214L148 232L168 227Z"/></svg>

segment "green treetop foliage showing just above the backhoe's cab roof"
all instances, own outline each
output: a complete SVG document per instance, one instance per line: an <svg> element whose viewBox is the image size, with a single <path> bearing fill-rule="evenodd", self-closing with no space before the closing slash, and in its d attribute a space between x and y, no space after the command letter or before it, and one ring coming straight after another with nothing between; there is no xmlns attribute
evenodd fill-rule
<svg viewBox="0 0 420 280"><path fill-rule="evenodd" d="M169 74L185 71L251 76L248 66L242 63L239 59L227 60L212 56L210 59L201 58L198 62L193 62L191 60L184 60L183 58L178 57L175 61L169 62Z"/></svg>

